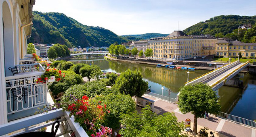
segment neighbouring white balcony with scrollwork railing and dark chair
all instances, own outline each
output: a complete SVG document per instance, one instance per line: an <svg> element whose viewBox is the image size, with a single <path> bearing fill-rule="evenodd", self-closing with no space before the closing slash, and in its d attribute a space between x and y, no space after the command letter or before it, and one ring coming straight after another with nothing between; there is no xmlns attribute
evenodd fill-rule
<svg viewBox="0 0 256 137"><path fill-rule="evenodd" d="M5 77L8 121L33 115L47 104L46 83L36 83L44 74L39 63L15 66L13 76Z"/></svg>

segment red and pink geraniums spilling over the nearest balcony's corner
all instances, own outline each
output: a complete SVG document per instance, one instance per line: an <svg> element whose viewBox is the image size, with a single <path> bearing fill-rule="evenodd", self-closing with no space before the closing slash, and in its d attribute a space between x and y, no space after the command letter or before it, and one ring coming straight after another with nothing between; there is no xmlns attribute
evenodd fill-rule
<svg viewBox="0 0 256 137"><path fill-rule="evenodd" d="M105 116L110 113L104 103L89 99L86 95L82 99L77 99L71 95L71 100L73 101L65 110L71 112L70 116L74 115L75 122L80 123L80 126L84 128L88 135L92 137L107 137L107 135L111 134L109 127L101 125L105 120Z"/></svg>

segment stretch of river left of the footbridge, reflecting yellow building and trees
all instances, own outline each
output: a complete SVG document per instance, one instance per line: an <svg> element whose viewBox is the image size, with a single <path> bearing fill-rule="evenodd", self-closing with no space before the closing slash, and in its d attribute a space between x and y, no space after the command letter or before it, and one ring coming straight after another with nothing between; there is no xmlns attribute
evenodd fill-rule
<svg viewBox="0 0 256 137"><path fill-rule="evenodd" d="M156 67L148 64L134 64L122 61L105 60L104 58L84 58L82 60L72 59L70 60L74 63L86 63L86 64L96 64L102 70L109 72L122 73L127 69L139 70L141 71L143 78L147 79L149 86L151 86L151 92L162 94L161 87L164 87L163 95L169 96L169 92L166 91L170 89L173 91L170 94L171 98L176 98L178 94L178 89L184 86L187 82L187 71L169 69L165 67ZM194 79L199 77L209 71L196 70L189 73L189 79Z"/></svg>

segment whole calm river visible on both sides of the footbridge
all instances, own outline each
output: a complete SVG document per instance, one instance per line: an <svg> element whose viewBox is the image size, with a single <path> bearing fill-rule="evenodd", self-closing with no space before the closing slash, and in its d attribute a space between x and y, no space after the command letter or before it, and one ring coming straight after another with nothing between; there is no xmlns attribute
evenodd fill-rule
<svg viewBox="0 0 256 137"><path fill-rule="evenodd" d="M146 79L151 86L151 92L162 95L161 87L164 87L163 95L170 98L176 98L180 87L187 82L187 71L169 69L165 67L156 67L148 64L133 64L123 61L105 60L103 57L84 57L84 58L71 58L70 60L74 64L96 64L101 70L122 73L127 69L141 71L143 78ZM190 71L189 80L199 77L208 70L195 70ZM242 79L245 88L236 88L222 86L218 89L217 94L219 96L221 111L242 118L250 120L256 119L256 76L245 74Z"/></svg>

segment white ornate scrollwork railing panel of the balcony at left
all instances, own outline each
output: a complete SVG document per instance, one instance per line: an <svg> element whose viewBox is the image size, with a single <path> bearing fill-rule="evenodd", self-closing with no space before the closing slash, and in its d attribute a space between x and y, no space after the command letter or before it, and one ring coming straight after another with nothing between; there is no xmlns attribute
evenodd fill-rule
<svg viewBox="0 0 256 137"><path fill-rule="evenodd" d="M19 73L22 74L22 73ZM13 114L47 103L45 83L36 83L42 72L5 77L7 112Z"/></svg>

